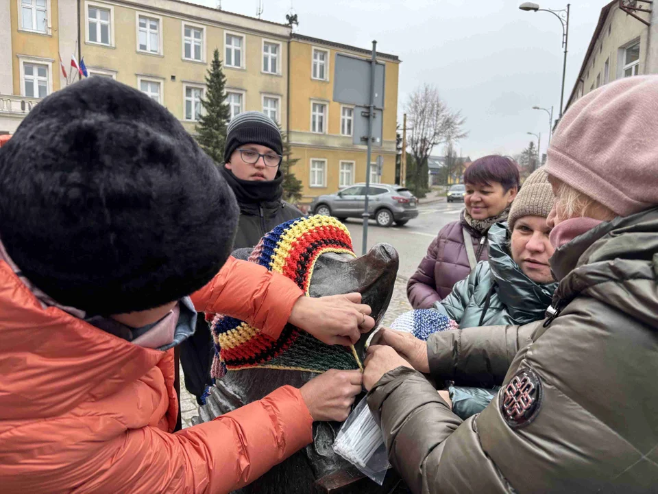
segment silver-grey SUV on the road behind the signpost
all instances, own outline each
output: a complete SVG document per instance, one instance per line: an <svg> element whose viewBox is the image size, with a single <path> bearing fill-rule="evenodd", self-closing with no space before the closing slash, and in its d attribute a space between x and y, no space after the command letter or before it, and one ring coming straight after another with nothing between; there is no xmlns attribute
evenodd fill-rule
<svg viewBox="0 0 658 494"><path fill-rule="evenodd" d="M313 200L310 210L315 214L335 216L339 220L348 217L361 218L365 210L365 184L337 193L319 196ZM417 199L409 189L400 185L371 184L368 193L368 213L379 226L402 226L418 216Z"/></svg>

